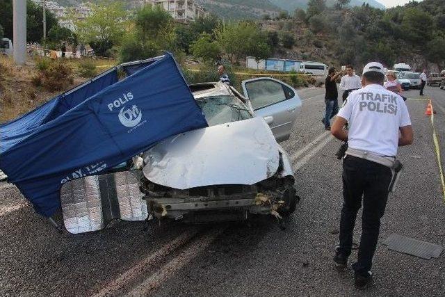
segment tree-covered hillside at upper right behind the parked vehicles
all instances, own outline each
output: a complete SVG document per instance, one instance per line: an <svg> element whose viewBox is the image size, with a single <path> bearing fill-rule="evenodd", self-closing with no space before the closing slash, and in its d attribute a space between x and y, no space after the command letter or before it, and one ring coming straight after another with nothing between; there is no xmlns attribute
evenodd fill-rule
<svg viewBox="0 0 445 297"><path fill-rule="evenodd" d="M274 47L276 58L322 61L328 65L380 61L409 63L416 70L445 69L445 1L424 0L379 10L359 6L317 15L262 22L266 31L288 33L291 48Z"/></svg>

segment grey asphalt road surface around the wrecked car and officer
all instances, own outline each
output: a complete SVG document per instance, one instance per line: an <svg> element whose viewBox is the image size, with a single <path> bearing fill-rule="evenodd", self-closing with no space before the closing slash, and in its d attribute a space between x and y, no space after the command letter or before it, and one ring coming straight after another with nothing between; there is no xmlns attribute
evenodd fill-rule
<svg viewBox="0 0 445 297"><path fill-rule="evenodd" d="M389 234L445 246L445 198L432 142L435 128L445 157L445 90L427 87L410 99L414 144L402 147L405 171L388 201L366 291L350 268L332 265L341 209L339 142L324 131L324 90L298 91L302 111L282 143L302 197L281 231L273 218L225 225L117 221L88 234L60 234L10 184L0 183L0 296L444 296L445 252L420 259L388 250ZM361 223L357 221L357 226ZM356 227L355 242L360 228ZM350 262L357 257L351 255Z"/></svg>

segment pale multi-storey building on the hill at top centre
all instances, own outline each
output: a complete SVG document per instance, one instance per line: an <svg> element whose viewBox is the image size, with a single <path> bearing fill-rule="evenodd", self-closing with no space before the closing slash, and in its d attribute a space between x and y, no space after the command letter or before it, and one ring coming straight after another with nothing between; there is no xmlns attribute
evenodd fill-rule
<svg viewBox="0 0 445 297"><path fill-rule="evenodd" d="M143 0L152 6L161 6L167 10L177 22L188 23L206 14L204 8L194 0Z"/></svg>

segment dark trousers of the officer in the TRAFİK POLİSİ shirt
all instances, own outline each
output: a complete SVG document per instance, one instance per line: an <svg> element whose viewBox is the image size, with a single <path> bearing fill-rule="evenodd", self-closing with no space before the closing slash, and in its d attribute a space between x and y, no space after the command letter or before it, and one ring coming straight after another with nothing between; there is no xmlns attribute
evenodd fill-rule
<svg viewBox="0 0 445 297"><path fill-rule="evenodd" d="M356 274L367 275L380 231L380 218L385 214L391 169L373 161L346 156L343 160L343 209L340 220L339 252L348 257L353 243L357 211L362 207L362 238L360 239Z"/></svg>

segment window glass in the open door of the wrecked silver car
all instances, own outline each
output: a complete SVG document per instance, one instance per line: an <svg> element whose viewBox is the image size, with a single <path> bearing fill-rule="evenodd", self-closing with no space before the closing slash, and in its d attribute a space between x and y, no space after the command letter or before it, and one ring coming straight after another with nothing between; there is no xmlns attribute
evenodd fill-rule
<svg viewBox="0 0 445 297"><path fill-rule="evenodd" d="M260 79L245 83L245 90L254 110L282 102L295 95L290 88L270 79Z"/></svg>

